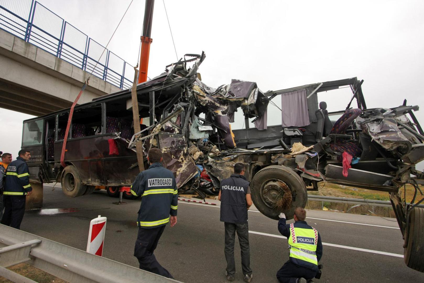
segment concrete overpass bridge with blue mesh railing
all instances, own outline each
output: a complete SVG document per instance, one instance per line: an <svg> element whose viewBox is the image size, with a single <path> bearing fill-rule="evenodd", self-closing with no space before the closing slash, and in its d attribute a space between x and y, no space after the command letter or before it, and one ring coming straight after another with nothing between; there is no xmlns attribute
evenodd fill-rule
<svg viewBox="0 0 424 283"><path fill-rule="evenodd" d="M3 5L0 108L40 116L70 107L90 73L79 103L131 87L131 65L45 6L34 0Z"/></svg>

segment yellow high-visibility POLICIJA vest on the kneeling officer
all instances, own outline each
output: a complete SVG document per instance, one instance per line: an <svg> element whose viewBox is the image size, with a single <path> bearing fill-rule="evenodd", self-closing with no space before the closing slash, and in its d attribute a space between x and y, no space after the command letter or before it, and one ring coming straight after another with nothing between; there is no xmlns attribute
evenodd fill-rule
<svg viewBox="0 0 424 283"><path fill-rule="evenodd" d="M312 229L296 228L290 224L290 236L288 238L290 248L290 261L299 266L316 269L318 231Z"/></svg>

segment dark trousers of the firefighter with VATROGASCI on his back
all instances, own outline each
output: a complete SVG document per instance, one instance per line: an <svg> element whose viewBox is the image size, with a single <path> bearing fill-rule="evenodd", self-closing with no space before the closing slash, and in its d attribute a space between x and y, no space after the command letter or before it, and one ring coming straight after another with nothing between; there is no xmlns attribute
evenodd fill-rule
<svg viewBox="0 0 424 283"><path fill-rule="evenodd" d="M156 257L153 255L163 230L165 230L165 225L151 229L139 227L137 241L135 242L134 256L140 263L140 269L173 278L169 271L156 261Z"/></svg>

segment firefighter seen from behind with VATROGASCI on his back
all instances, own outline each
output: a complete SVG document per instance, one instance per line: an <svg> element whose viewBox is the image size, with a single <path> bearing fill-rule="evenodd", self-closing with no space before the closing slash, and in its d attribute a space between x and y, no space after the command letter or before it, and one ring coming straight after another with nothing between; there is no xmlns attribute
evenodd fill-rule
<svg viewBox="0 0 424 283"><path fill-rule="evenodd" d="M156 261L153 255L159 238L170 222L177 223L178 191L172 171L162 167L162 151L150 149L147 154L150 167L140 172L131 185L134 196L142 196L138 211L138 235L134 256L139 268L168 278L172 275Z"/></svg>

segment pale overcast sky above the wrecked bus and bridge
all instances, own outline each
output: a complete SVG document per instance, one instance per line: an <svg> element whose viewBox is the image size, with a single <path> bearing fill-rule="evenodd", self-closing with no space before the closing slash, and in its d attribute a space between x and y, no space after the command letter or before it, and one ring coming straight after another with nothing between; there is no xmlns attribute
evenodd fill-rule
<svg viewBox="0 0 424 283"><path fill-rule="evenodd" d="M0 3L6 0L0 0ZM9 2L7 0L7 2ZM106 45L131 0L40 0L50 10ZM171 1L165 0L178 58L206 53L199 72L211 87L232 78L262 91L357 77L369 108L394 107L406 98L420 105L424 77L424 1ZM137 64L144 1L134 0L109 50ZM148 76L175 62L162 0L156 0ZM30 79L30 78L28 78ZM329 111L345 109L349 89L321 93ZM279 98L273 100L280 104ZM421 112L421 113L420 113ZM417 113L424 123L423 110ZM16 156L22 120L2 110L0 150ZM281 123L274 108L268 124ZM243 119L238 117L239 123Z"/></svg>

